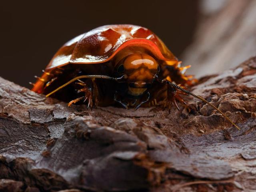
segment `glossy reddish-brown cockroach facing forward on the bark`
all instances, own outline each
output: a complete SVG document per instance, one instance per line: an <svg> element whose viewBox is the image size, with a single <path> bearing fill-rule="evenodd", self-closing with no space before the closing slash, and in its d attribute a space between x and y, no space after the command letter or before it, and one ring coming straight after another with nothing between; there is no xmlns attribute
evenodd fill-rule
<svg viewBox="0 0 256 192"><path fill-rule="evenodd" d="M147 28L106 25L81 34L54 55L32 90L69 102L86 102L87 108L162 104L170 111L182 94L192 95L220 112L204 98L185 90L195 81L181 62ZM175 82L175 83L174 83ZM238 128L239 129L239 128Z"/></svg>

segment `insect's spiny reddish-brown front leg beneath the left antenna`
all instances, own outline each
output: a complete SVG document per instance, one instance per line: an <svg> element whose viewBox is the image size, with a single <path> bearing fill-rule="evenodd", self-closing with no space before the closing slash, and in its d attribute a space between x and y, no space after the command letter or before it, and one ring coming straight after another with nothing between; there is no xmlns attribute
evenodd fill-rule
<svg viewBox="0 0 256 192"><path fill-rule="evenodd" d="M96 107L98 105L98 87L95 83L94 79L88 79L86 82L83 82L81 80L78 80L76 83L80 86L83 86L80 90L78 90L78 93L83 92L84 96L76 98L68 103L68 106L71 106L72 104L84 100L84 102L87 101L87 109L90 107L91 109L93 107Z"/></svg>

